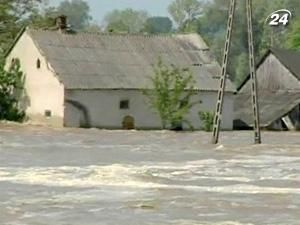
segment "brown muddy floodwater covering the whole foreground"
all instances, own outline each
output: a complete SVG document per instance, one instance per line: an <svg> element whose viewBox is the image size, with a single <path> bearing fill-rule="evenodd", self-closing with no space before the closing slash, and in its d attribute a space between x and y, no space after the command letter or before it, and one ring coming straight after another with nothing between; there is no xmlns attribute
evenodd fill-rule
<svg viewBox="0 0 300 225"><path fill-rule="evenodd" d="M299 225L300 133L0 127L1 225Z"/></svg>

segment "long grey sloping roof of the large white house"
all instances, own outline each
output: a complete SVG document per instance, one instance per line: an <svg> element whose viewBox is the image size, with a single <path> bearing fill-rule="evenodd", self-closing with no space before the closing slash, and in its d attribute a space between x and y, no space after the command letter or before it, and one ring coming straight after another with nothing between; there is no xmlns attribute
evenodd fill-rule
<svg viewBox="0 0 300 225"><path fill-rule="evenodd" d="M197 34L128 35L66 34L27 29L67 89L151 88L152 64L159 56L169 63L189 67L195 88L218 90L220 66ZM235 92L228 81L227 91Z"/></svg>

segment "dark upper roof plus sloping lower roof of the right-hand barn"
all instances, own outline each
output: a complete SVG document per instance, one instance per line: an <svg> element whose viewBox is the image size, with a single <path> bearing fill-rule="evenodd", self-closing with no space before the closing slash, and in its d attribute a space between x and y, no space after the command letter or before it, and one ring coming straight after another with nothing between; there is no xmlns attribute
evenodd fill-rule
<svg viewBox="0 0 300 225"><path fill-rule="evenodd" d="M257 65L257 68L265 59L273 54L291 74L300 80L300 53L292 50L270 49ZM240 91L250 80L250 75L238 88L235 100L235 119L241 120L249 126L253 126L253 110L251 93ZM277 119L282 118L300 104L300 85L295 90L259 90L258 103L260 109L260 122L262 127L268 127Z"/></svg>

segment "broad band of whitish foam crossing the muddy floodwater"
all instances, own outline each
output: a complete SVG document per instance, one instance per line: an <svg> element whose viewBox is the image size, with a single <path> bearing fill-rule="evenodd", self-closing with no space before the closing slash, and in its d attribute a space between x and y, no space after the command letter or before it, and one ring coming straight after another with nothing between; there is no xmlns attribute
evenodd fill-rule
<svg viewBox="0 0 300 225"><path fill-rule="evenodd" d="M231 170L218 170L214 166L208 166L214 163L216 163L214 160L204 160L201 161L198 166L196 162L190 162L186 164L179 164L177 166L170 163L169 166L166 164L148 166L115 164L109 166L87 167L0 167L0 181L28 185L78 188L118 186L133 189L183 189L189 191L219 193L300 194L300 188L260 187L258 185L247 184L250 181L255 181L255 179L247 177L247 174L243 174L243 171L233 173ZM204 167L205 165L206 167ZM296 180L299 178L297 174L283 174L284 176L280 176L280 171L281 170L278 170L277 175L275 176L277 179ZM269 172L271 173L272 171ZM233 176L234 174L239 174L241 176ZM273 177L265 176L266 179L272 179ZM199 185L199 183L201 183L199 180L201 181L205 179L216 181L235 181L238 182L238 184L209 186L205 185L205 182L203 182L203 185ZM263 178L259 177L258 180L261 179ZM178 184L170 183L168 180L197 180L198 183Z"/></svg>

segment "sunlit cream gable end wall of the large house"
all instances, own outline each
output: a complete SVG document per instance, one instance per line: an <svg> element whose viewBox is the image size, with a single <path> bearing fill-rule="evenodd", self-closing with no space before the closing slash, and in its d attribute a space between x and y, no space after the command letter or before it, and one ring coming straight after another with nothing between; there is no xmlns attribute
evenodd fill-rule
<svg viewBox="0 0 300 225"><path fill-rule="evenodd" d="M41 55L33 40L25 32L7 57L7 66L18 58L25 74L25 93L22 107L33 123L55 126L63 125L64 87L59 82L53 69ZM37 68L37 60L41 67ZM51 117L45 111L51 111Z"/></svg>

